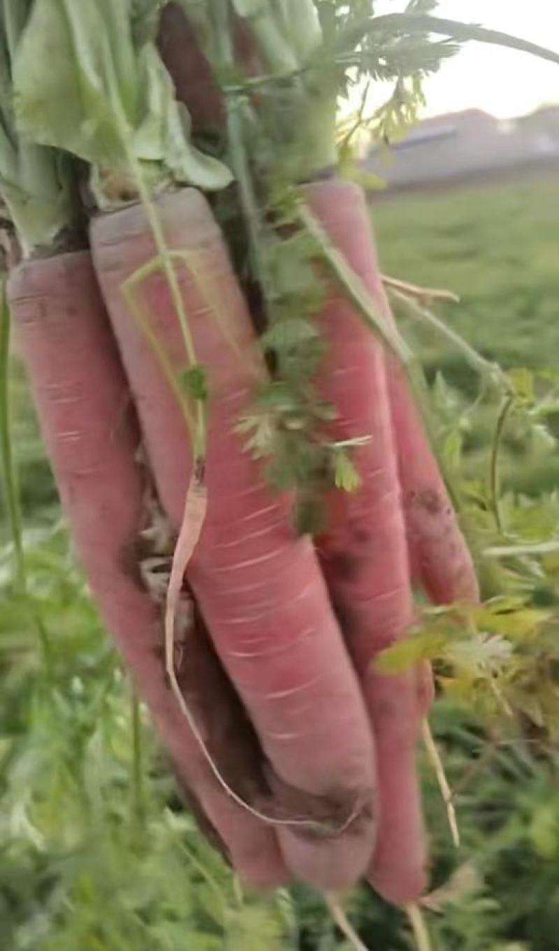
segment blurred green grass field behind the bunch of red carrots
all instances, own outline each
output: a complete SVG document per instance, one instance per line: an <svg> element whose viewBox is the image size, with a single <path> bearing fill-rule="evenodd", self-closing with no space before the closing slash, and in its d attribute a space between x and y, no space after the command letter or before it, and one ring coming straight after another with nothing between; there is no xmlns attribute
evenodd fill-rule
<svg viewBox="0 0 559 951"><path fill-rule="evenodd" d="M375 203L387 273L452 288L439 309L484 355L541 368L559 358L559 189L476 187ZM460 412L476 383L431 332L406 324L431 378ZM454 392L455 391L455 392ZM2 951L347 951L323 903L302 888L242 892L176 800L168 769L107 645L59 522L21 370L13 412L25 510L29 597L13 588L0 537L0 948ZM496 406L465 432L472 474L487 471ZM504 475L537 494L559 483L556 448L512 420ZM550 509L549 509L550 511ZM555 510L553 510L555 512ZM433 881L457 883L430 917L437 951L559 947L559 789L530 743L496 747L472 712L437 709L435 727L463 835L453 852L425 769ZM141 750L141 761L139 761ZM409 951L399 911L365 888L349 903L363 940Z"/></svg>

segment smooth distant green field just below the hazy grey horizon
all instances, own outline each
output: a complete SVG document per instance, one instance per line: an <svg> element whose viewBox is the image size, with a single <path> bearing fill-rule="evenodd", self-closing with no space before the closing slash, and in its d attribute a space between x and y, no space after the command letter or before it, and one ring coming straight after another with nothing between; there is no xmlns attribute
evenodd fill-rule
<svg viewBox="0 0 559 951"><path fill-rule="evenodd" d="M559 180L462 188L374 205L387 274L461 298L453 328L505 366L556 365L559 357ZM457 359L425 343L428 365ZM458 377L459 378L459 377Z"/></svg>

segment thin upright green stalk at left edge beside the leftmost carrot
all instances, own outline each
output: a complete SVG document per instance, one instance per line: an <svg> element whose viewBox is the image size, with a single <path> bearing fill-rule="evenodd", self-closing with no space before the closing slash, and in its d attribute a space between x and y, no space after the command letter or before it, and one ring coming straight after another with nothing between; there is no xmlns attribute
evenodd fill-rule
<svg viewBox="0 0 559 951"><path fill-rule="evenodd" d="M6 295L5 279L2 280L0 287L0 457L4 496L8 509L10 534L13 542L17 587L23 594L27 589L27 578L21 510L11 442L10 307Z"/></svg>

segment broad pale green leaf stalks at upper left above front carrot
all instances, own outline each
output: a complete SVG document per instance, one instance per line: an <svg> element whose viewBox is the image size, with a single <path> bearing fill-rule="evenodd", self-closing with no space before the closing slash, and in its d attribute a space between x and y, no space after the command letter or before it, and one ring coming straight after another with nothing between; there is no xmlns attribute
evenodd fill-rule
<svg viewBox="0 0 559 951"><path fill-rule="evenodd" d="M187 113L153 41L159 6L37 0L15 56L19 129L93 165L93 189L105 206L133 190L128 138L152 185L212 190L231 181L225 165L190 141Z"/></svg>

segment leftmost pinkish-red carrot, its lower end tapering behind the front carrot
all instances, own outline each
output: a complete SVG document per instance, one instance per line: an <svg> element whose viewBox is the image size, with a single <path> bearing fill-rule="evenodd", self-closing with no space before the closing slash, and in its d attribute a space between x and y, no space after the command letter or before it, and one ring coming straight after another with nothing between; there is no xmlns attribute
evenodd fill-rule
<svg viewBox="0 0 559 951"><path fill-rule="evenodd" d="M156 656L159 613L125 552L142 524L140 436L88 252L19 265L10 307L72 538L108 629L173 756L241 877L284 883L273 832L234 805L185 727ZM136 569L137 571L137 569ZM225 719L228 710L223 709Z"/></svg>

